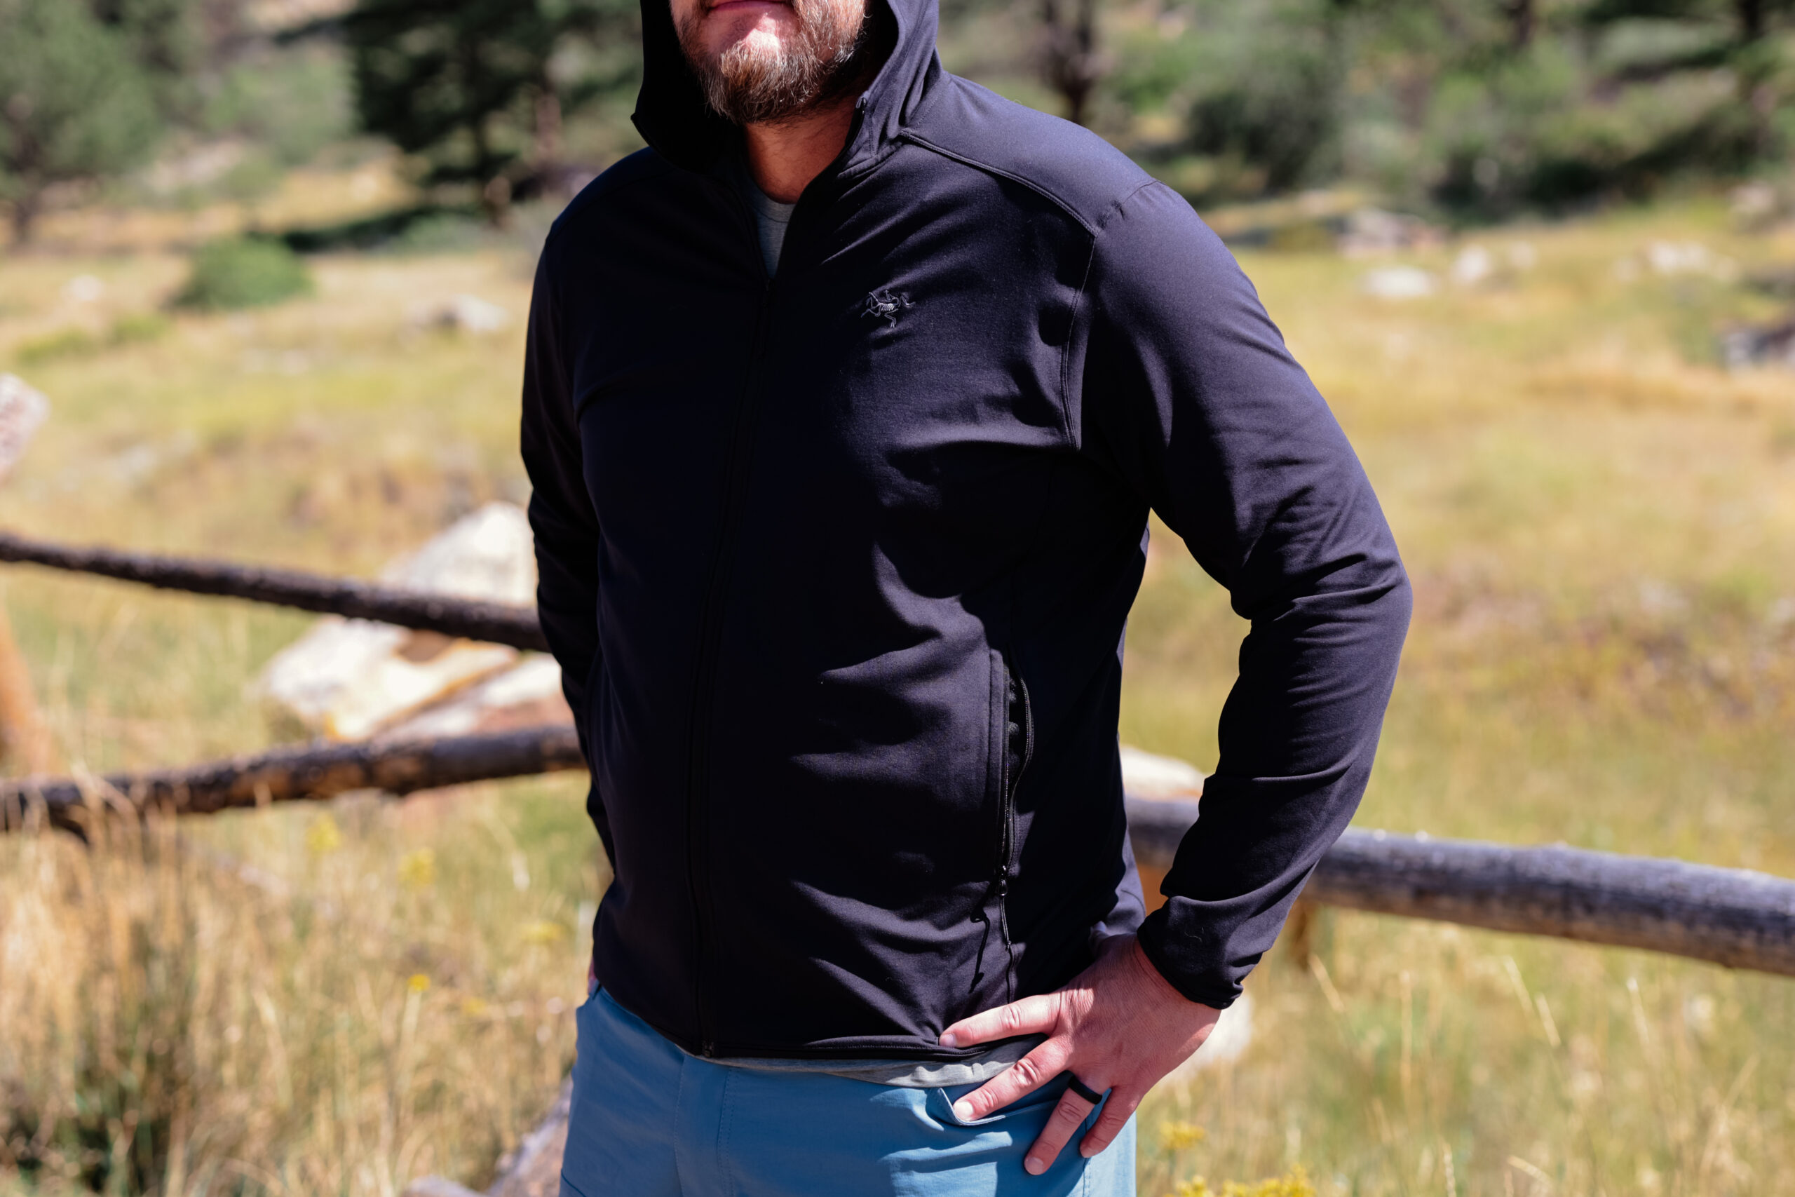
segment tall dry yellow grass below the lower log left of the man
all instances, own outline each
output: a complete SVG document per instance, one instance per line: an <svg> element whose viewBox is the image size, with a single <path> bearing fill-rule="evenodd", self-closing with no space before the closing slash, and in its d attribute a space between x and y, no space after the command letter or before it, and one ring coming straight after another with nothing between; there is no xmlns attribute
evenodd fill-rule
<svg viewBox="0 0 1795 1197"><path fill-rule="evenodd" d="M598 878L565 797L9 843L0 1192L393 1197L490 1174L573 1055ZM560 834L524 851L531 809Z"/></svg>

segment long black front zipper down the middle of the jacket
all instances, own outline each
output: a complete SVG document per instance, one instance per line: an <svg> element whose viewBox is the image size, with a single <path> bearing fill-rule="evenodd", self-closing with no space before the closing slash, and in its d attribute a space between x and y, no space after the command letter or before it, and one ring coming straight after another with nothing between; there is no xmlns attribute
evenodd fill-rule
<svg viewBox="0 0 1795 1197"><path fill-rule="evenodd" d="M740 196L738 196L740 199ZM747 203L741 203L747 208ZM754 212L749 212L749 239L754 260L761 262L759 233ZM757 363L766 355L766 337L772 330L774 280L765 282L761 305L754 316L754 339L749 343L749 368L741 380L741 402L736 406L736 424L729 432L729 467L723 483L723 510L718 519L716 553L711 558L711 580L705 587L704 610L698 617L698 675L691 696L691 752L686 773L686 878L693 908L693 937L696 940L696 969L693 976L693 1005L698 1010L698 1050L716 1055L716 1023L711 1016L711 944L716 931L711 926L711 725L714 716L716 657L723 639L723 598L729 590L729 569L741 508L749 490L749 461L754 450L754 416L759 400L756 388Z"/></svg>

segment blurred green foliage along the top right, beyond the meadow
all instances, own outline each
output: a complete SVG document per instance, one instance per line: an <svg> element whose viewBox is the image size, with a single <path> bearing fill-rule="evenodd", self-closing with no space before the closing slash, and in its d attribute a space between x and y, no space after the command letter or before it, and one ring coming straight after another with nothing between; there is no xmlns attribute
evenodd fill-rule
<svg viewBox="0 0 1795 1197"><path fill-rule="evenodd" d="M1646 196L1795 149L1790 0L1183 0L1111 133L1201 197L1350 178L1461 219ZM1163 120L1161 120L1163 124ZM1183 165L1179 165L1183 163ZM1195 169L1192 163L1201 165Z"/></svg>

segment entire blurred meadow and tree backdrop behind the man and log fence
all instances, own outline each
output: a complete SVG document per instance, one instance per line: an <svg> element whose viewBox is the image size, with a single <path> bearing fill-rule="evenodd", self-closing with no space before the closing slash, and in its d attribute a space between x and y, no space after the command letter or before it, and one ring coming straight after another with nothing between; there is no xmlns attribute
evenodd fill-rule
<svg viewBox="0 0 1795 1197"><path fill-rule="evenodd" d="M1353 438L1418 603L1359 824L1795 876L1795 4L944 4L951 70L1197 205ZM48 413L0 526L390 578L456 528L515 549L531 267L639 145L637 27L0 0L0 373ZM494 553L449 572L504 598ZM0 607L11 772L483 718L425 682L553 703L470 646L363 644L402 684L345 689L343 628L275 608L22 567ZM1124 741L1213 768L1240 633L1156 528ZM582 800L0 838L0 1193L483 1188L573 1057ZM1795 1192L1790 982L1350 912L1310 949L1143 1109L1143 1197Z"/></svg>

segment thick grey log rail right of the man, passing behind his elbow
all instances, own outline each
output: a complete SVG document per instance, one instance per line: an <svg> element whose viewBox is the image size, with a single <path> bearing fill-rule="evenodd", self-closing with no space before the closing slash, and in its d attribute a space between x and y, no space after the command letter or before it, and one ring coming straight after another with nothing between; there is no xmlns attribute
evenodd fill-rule
<svg viewBox="0 0 1795 1197"><path fill-rule="evenodd" d="M1127 811L1134 856L1170 867L1197 804L1131 799ZM1303 897L1795 976L1795 881L1743 869L1348 831Z"/></svg>

